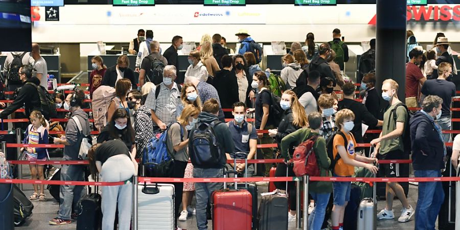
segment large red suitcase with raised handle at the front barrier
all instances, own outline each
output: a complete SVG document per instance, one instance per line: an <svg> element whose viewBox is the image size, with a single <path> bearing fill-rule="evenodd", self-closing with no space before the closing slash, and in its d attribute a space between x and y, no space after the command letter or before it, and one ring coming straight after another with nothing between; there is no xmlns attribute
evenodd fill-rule
<svg viewBox="0 0 460 230"><path fill-rule="evenodd" d="M236 157L234 157L236 162ZM246 161L247 163L247 161ZM234 173L236 171L228 171ZM247 164L245 165L247 175ZM238 183L235 182L235 189L227 189L224 182L224 189L215 191L212 196L213 203L213 229L214 230L249 230L252 228L252 195L246 189L238 190Z"/></svg>

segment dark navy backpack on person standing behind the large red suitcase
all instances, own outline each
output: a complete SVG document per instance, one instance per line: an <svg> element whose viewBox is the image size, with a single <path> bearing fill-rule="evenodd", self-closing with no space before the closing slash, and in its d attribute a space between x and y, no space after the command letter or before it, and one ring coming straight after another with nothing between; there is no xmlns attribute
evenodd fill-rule
<svg viewBox="0 0 460 230"><path fill-rule="evenodd" d="M193 166L213 167L222 164L224 154L217 141L214 127L221 123L213 121L211 124L198 122L191 134L192 148L189 148L189 155ZM224 164L224 163L223 163Z"/></svg>

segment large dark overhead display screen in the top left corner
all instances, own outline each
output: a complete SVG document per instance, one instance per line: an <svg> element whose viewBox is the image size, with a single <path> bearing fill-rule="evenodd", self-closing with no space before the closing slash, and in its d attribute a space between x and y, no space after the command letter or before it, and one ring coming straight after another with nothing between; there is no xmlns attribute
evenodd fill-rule
<svg viewBox="0 0 460 230"><path fill-rule="evenodd" d="M31 50L30 14L30 1L0 1L0 51Z"/></svg>

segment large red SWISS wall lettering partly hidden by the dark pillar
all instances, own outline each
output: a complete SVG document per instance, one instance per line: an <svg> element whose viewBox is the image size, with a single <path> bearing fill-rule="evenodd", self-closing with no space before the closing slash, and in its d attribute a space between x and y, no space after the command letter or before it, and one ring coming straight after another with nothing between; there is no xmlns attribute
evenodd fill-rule
<svg viewBox="0 0 460 230"><path fill-rule="evenodd" d="M376 25L377 15L367 23ZM407 6L407 20L415 21L459 21L460 5L456 6Z"/></svg>

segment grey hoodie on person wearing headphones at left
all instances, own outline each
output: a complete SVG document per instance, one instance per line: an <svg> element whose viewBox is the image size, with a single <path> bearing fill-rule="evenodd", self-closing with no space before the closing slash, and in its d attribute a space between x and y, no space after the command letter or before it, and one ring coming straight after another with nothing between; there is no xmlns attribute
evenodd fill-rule
<svg viewBox="0 0 460 230"><path fill-rule="evenodd" d="M71 108L72 111L73 108ZM89 120L88 114L82 109L77 109L72 112L72 116L76 116L80 121L81 127L83 129L84 135L89 135ZM67 127L65 128L65 137L67 143L64 147L64 160L78 160L78 152L80 151L81 141L83 139L82 132L78 130L77 124L73 119L69 119L67 122Z"/></svg>

